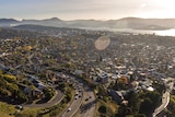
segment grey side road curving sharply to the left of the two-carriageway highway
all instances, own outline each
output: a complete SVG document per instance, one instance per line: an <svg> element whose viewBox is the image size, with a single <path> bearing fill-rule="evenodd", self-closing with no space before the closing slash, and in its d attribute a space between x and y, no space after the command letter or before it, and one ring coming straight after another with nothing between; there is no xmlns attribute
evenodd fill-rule
<svg viewBox="0 0 175 117"><path fill-rule="evenodd" d="M44 103L44 104L24 104L23 107L50 107L61 102L63 98L63 93L57 90L56 95L51 101Z"/></svg>

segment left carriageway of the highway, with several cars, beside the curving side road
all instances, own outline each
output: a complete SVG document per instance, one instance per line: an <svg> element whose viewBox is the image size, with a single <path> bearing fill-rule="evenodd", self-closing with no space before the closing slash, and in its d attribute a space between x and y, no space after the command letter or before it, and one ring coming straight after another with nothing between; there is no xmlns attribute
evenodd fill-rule
<svg viewBox="0 0 175 117"><path fill-rule="evenodd" d="M66 108L61 117L72 117L79 110L83 100L83 92L81 92L79 95L81 95L81 97L77 100L74 98L71 105L68 107L68 108L71 108L71 110L68 110L68 108Z"/></svg>

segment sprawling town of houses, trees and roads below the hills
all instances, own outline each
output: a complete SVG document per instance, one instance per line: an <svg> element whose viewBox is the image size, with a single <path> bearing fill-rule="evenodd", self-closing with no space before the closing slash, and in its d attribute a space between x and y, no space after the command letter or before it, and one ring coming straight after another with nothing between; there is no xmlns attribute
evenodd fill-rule
<svg viewBox="0 0 175 117"><path fill-rule="evenodd" d="M173 117L175 37L0 28L0 116Z"/></svg>

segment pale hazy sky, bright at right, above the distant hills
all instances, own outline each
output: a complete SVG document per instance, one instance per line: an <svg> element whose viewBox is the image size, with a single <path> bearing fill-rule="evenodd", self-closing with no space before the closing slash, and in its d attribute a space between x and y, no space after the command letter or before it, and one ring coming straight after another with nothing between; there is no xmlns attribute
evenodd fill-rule
<svg viewBox="0 0 175 117"><path fill-rule="evenodd" d="M175 0L0 0L0 17L175 17Z"/></svg>

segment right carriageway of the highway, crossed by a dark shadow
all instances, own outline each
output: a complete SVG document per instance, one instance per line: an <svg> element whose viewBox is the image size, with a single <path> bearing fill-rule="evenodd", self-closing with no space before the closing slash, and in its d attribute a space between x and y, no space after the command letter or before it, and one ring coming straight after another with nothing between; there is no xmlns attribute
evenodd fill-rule
<svg viewBox="0 0 175 117"><path fill-rule="evenodd" d="M96 100L94 92L85 87L84 101L79 112L73 117L94 117Z"/></svg>

